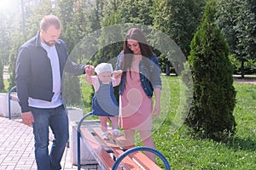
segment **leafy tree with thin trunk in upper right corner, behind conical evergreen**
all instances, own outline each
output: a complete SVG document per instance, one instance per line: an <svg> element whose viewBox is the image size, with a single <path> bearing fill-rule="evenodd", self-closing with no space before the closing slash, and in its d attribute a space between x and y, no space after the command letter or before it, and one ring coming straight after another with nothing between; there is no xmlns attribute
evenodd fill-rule
<svg viewBox="0 0 256 170"><path fill-rule="evenodd" d="M218 26L230 44L231 54L241 62L241 77L245 63L256 60L256 2L253 0L220 0Z"/></svg>

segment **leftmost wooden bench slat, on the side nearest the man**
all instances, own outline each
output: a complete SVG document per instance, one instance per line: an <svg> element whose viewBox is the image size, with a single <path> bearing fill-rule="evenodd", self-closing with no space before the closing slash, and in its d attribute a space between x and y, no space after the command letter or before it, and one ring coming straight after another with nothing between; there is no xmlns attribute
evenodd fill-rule
<svg viewBox="0 0 256 170"><path fill-rule="evenodd" d="M102 145L96 141L95 137L88 129L81 128L80 132L85 139L84 143L88 144L88 149L99 163L99 166L103 169L107 168L111 170L114 164L112 157L108 155L107 151L102 148ZM118 167L118 169L121 170L120 167Z"/></svg>

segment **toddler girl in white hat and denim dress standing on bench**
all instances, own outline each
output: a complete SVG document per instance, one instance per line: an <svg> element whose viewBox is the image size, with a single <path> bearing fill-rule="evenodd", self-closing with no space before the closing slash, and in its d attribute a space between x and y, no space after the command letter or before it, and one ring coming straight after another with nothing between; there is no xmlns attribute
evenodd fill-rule
<svg viewBox="0 0 256 170"><path fill-rule="evenodd" d="M94 70L97 76L93 76ZM119 115L119 106L113 94L113 87L118 86L122 71L114 71L111 64L101 63L96 65L96 68L89 65L85 69L85 80L89 82L95 89L95 94L92 99L92 114L99 116L103 139L108 138L108 119L111 122L113 136L119 137L121 133L118 129L117 116ZM113 74L113 77L112 77Z"/></svg>

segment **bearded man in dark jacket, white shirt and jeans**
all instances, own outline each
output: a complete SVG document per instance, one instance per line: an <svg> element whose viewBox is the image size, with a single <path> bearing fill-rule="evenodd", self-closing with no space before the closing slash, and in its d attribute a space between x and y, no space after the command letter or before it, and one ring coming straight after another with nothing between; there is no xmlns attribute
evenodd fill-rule
<svg viewBox="0 0 256 170"><path fill-rule="evenodd" d="M67 111L61 96L65 71L84 74L84 65L73 63L59 39L61 21L54 15L41 20L40 31L25 42L17 57L15 81L22 122L33 127L35 157L39 170L61 169L68 140ZM55 135L50 153L49 127Z"/></svg>

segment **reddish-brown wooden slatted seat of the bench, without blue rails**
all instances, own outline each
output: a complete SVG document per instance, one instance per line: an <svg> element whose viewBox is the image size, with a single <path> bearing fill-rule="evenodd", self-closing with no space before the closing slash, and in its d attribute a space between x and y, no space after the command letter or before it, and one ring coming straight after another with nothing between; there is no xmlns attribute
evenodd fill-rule
<svg viewBox="0 0 256 170"><path fill-rule="evenodd" d="M102 169L112 169L114 161L124 154L123 147L119 145L124 142L124 137L118 137L114 140L104 140L102 139L102 130L99 127L93 128L92 131L89 131L87 128L81 128L81 135L84 144L86 144L90 153L92 153L99 167ZM113 141L119 141L119 143ZM121 161L118 169L160 170L161 168L142 152L136 152L131 156L126 156L124 160Z"/></svg>

